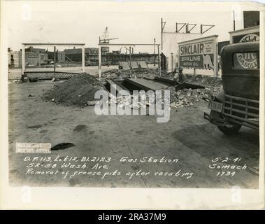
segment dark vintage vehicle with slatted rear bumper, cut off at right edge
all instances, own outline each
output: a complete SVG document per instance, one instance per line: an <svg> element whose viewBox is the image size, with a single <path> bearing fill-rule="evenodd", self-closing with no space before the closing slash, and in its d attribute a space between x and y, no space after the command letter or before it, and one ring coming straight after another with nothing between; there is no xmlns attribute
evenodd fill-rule
<svg viewBox="0 0 265 224"><path fill-rule="evenodd" d="M259 130L259 41L225 45L221 64L223 91L203 117L227 135L242 126Z"/></svg>

